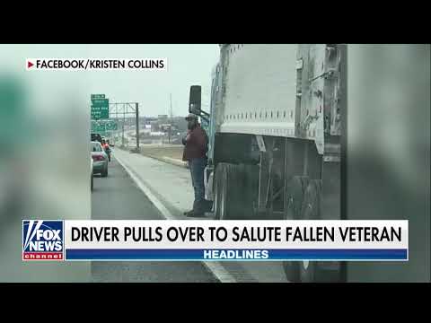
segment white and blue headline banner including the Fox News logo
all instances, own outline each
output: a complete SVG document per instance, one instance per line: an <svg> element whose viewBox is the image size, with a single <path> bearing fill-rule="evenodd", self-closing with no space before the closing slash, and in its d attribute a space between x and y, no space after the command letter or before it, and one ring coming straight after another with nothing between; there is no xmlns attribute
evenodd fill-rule
<svg viewBox="0 0 431 323"><path fill-rule="evenodd" d="M408 221L22 222L22 260L408 261Z"/></svg>

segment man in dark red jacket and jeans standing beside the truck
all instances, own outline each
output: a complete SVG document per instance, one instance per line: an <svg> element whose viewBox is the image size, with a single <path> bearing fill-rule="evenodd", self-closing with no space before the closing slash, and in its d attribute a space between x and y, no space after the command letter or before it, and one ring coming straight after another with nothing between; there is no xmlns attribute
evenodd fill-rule
<svg viewBox="0 0 431 323"><path fill-rule="evenodd" d="M188 133L182 139L184 152L182 160L189 162L191 182L195 191L195 201L193 209L184 215L191 217L204 217L205 212L210 211L211 202L205 200L204 171L207 167L208 136L207 132L200 127L198 117L189 114L186 118L188 122Z"/></svg>

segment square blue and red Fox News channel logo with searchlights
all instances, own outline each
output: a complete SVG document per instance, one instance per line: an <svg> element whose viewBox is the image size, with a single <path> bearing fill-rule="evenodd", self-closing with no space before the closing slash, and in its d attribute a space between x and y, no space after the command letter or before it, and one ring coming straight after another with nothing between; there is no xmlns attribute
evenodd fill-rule
<svg viewBox="0 0 431 323"><path fill-rule="evenodd" d="M63 221L22 221L22 260L63 260Z"/></svg>

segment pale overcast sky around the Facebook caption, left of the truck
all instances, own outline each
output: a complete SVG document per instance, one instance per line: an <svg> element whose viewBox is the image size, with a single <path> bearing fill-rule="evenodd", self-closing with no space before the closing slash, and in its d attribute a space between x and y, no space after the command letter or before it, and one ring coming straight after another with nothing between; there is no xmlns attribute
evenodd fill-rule
<svg viewBox="0 0 431 323"><path fill-rule="evenodd" d="M167 71L26 71L26 58L167 58ZM211 70L219 57L216 44L179 45L0 45L0 68L18 75L41 112L58 109L53 98L74 97L88 102L103 93L110 102L137 101L141 116L188 113L189 86L202 85L202 104L208 109ZM46 102L49 101L49 104Z"/></svg>

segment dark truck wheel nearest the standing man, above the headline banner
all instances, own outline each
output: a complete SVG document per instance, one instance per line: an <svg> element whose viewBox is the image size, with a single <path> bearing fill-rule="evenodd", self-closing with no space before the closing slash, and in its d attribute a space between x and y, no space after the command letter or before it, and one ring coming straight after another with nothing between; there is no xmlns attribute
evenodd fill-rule
<svg viewBox="0 0 431 323"><path fill-rule="evenodd" d="M256 167L227 162L217 165L214 193L217 220L242 220L252 217Z"/></svg>

